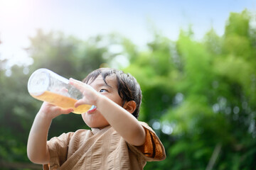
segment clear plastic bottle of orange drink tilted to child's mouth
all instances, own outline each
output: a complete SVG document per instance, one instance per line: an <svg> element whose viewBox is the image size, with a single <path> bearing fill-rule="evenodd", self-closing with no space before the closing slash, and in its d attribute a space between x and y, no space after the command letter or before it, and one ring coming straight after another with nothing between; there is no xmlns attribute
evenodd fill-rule
<svg viewBox="0 0 256 170"><path fill-rule="evenodd" d="M60 108L73 108L73 113L81 114L90 110L90 105L74 107L82 98L82 93L69 84L68 79L49 69L37 69L28 79L28 93L40 101L47 101Z"/></svg>

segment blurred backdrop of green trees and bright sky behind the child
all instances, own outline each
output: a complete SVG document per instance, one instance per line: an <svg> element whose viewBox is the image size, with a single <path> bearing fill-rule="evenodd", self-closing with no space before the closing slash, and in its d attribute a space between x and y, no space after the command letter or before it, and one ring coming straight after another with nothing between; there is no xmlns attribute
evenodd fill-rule
<svg viewBox="0 0 256 170"><path fill-rule="evenodd" d="M0 0L1 169L41 169L26 156L42 103L26 84L41 67L136 77L139 120L167 155L145 169L256 169L256 1ZM79 128L60 115L48 137Z"/></svg>

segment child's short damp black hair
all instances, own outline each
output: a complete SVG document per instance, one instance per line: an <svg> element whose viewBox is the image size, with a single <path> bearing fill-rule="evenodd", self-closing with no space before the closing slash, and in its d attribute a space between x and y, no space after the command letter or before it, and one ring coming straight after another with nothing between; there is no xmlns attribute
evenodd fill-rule
<svg viewBox="0 0 256 170"><path fill-rule="evenodd" d="M107 76L115 75L117 79L117 90L119 96L122 98L124 103L125 101L135 101L136 109L132 115L134 115L135 118L138 118L139 108L142 103L142 90L140 89L137 80L131 74L126 74L118 69L100 68L88 74L87 77L82 80L82 82L88 84L90 81L90 83L92 83L99 75L102 76L105 84L107 84Z"/></svg>

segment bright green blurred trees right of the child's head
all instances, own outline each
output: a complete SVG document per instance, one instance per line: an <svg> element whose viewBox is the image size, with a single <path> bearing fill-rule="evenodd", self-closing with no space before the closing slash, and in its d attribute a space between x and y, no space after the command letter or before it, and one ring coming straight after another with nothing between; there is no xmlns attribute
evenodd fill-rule
<svg viewBox="0 0 256 170"><path fill-rule="evenodd" d="M255 169L253 17L230 13L225 35L212 28L203 42L193 40L191 28L177 42L156 34L127 67L142 86L140 118L168 155L146 169Z"/></svg>

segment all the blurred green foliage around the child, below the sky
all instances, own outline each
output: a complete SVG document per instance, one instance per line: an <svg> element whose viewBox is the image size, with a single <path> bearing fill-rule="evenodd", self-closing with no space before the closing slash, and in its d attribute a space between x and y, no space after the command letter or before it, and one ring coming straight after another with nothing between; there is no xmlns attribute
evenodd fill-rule
<svg viewBox="0 0 256 170"><path fill-rule="evenodd" d="M41 106L26 91L35 69L83 79L98 67L117 67L139 81L139 120L154 128L166 149L166 160L148 162L145 169L255 169L252 14L230 13L225 34L211 28L202 41L193 40L191 28L181 30L176 42L154 32L144 51L117 33L85 41L38 30L27 49L32 65L14 66L7 77L6 61L0 61L0 160L28 162L26 140ZM49 137L78 128L87 128L80 115L61 115L53 120Z"/></svg>

